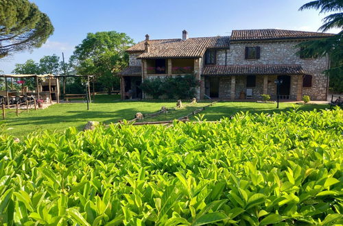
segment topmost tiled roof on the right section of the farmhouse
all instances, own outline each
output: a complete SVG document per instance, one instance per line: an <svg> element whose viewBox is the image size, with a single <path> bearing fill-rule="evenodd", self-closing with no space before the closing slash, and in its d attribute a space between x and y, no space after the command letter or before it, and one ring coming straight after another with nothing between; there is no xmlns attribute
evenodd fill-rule
<svg viewBox="0 0 343 226"><path fill-rule="evenodd" d="M333 35L329 33L301 32L285 29L248 29L233 30L230 41L325 38Z"/></svg>

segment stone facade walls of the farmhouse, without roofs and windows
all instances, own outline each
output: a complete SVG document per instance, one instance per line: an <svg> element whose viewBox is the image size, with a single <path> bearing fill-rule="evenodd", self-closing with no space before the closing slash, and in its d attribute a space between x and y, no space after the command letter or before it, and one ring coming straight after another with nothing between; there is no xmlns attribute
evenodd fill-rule
<svg viewBox="0 0 343 226"><path fill-rule="evenodd" d="M231 42L229 49L216 50L217 65L261 65L261 64L300 64L304 71L312 75L312 86L303 87L303 75L289 75L289 99L300 100L303 95L309 95L311 100L326 100L328 77L322 71L326 70L329 65L329 59L301 59L296 52L299 50L295 46L298 41L265 41L265 42ZM258 60L246 60L246 47L260 47L260 58ZM145 60L138 60L141 53L130 53L130 66L142 66L142 79L150 77L146 73ZM143 64L142 64L143 62ZM145 66L144 66L145 65ZM171 68L171 60L168 59L168 68ZM197 90L197 98L203 99L205 93L206 77L201 76L204 68L204 56L194 60L194 74L200 80L200 87ZM171 69L170 69L171 70ZM169 70L169 71L170 71ZM152 77L155 77L153 75ZM228 75L220 77L219 98L233 99L232 93L235 93L234 99L239 99L241 92L246 92L246 75ZM274 80L276 75L256 75L256 86L252 88L252 98L261 99L265 92L272 99L276 98L276 85ZM233 85L234 90L233 90ZM145 97L147 98L147 97Z"/></svg>

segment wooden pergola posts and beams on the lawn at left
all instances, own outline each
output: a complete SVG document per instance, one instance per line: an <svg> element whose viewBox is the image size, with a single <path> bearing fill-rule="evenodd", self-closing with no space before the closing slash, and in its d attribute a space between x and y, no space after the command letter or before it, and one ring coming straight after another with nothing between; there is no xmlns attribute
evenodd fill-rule
<svg viewBox="0 0 343 226"><path fill-rule="evenodd" d="M36 97L37 99L40 99L40 91L39 91L39 78L48 78L49 79L49 100L50 103L52 103L51 99L51 79L56 79L56 85L57 85L57 93L56 93L56 101L57 103L60 103L60 87L59 87L59 79L66 77L86 77L86 99L87 99L87 110L89 109L88 102L91 101L91 88L90 88L90 77L94 77L94 75L52 75L52 74L44 74L44 75L0 75L0 77L5 78L5 97L7 98L7 103L10 103L10 96L8 94L8 78L29 78L34 77L35 78L35 89L36 89ZM22 85L23 86L23 85ZM64 90L64 81L63 81L63 90ZM23 95L24 95L24 91Z"/></svg>

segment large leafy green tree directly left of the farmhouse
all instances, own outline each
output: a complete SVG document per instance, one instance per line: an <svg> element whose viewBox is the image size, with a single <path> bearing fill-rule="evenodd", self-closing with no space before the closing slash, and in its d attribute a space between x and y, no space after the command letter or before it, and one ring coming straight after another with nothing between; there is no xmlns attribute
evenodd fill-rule
<svg viewBox="0 0 343 226"><path fill-rule="evenodd" d="M71 62L78 74L96 75L107 90L119 88L117 73L128 65L126 49L134 44L125 33L88 33L82 43L75 47Z"/></svg>

